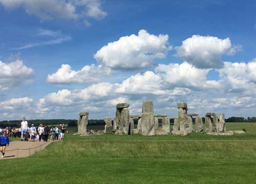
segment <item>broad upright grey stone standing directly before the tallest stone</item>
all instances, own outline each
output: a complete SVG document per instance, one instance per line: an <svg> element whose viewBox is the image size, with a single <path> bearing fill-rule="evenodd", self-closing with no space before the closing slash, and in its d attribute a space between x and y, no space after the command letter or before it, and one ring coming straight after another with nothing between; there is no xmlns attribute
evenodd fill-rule
<svg viewBox="0 0 256 184"><path fill-rule="evenodd" d="M153 113L147 113L147 112L142 113L141 129L142 129L142 135L145 135L145 136L156 135L155 119L154 119Z"/></svg>

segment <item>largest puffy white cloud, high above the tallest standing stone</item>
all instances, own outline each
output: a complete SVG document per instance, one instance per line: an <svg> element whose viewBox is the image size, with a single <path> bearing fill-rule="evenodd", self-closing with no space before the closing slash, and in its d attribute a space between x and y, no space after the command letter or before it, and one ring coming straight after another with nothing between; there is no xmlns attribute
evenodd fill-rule
<svg viewBox="0 0 256 184"><path fill-rule="evenodd" d="M138 36L124 36L103 46L94 58L103 66L116 70L150 68L155 65L154 59L164 58L172 49L167 42L168 35L156 36L140 30Z"/></svg>

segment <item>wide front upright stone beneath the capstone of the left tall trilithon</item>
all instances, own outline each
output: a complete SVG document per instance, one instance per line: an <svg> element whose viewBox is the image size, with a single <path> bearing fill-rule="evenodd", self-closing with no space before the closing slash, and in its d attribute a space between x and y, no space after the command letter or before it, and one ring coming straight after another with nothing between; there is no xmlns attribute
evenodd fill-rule
<svg viewBox="0 0 256 184"><path fill-rule="evenodd" d="M124 108L120 113L120 120L119 120L119 134L128 134L129 125L130 125L130 116L129 116L129 109Z"/></svg>

